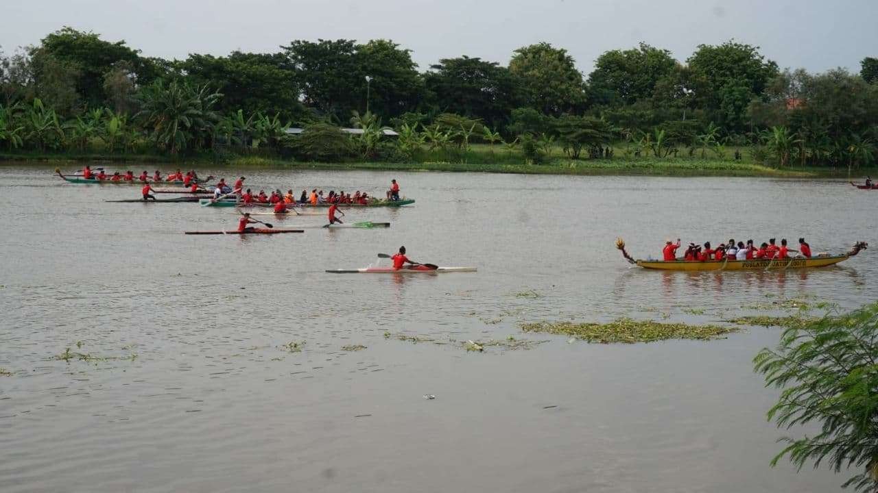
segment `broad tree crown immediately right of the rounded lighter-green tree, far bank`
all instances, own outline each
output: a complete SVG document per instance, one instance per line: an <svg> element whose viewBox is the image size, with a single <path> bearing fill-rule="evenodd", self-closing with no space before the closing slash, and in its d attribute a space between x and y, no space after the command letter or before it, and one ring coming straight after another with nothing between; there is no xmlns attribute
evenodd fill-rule
<svg viewBox="0 0 878 493"><path fill-rule="evenodd" d="M628 50L610 50L594 62L588 90L597 104L632 104L650 98L656 82L673 75L676 68L671 52L646 43Z"/></svg>

